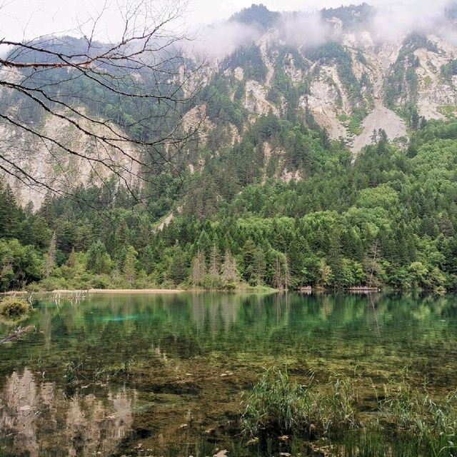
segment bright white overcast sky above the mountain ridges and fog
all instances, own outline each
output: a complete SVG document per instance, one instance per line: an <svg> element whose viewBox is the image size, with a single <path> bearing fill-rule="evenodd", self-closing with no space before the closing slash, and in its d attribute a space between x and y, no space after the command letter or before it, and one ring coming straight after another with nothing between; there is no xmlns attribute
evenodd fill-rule
<svg viewBox="0 0 457 457"><path fill-rule="evenodd" d="M84 23L89 17L108 5L104 16L103 29L99 33L109 36L116 34L121 21L114 10L117 4L133 3L135 0L0 0L0 34L9 39L31 39L46 34L64 34L75 29L76 24ZM151 1L151 0L150 0ZM154 1L154 0L153 0ZM163 1L172 4L173 0ZM368 0L371 5L391 4L395 0ZM402 0L408 3L410 0ZM412 1L412 0L411 0ZM152 3L152 1L151 1ZM189 0L187 8L188 24L210 24L227 19L231 14L251 6L263 3L273 11L316 10L325 6L357 4L358 0ZM114 38L114 37L113 37Z"/></svg>

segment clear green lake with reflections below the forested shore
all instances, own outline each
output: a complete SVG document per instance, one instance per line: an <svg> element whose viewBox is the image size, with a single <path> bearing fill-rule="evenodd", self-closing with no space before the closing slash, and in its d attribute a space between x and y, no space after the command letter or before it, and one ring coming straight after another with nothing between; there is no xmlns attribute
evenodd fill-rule
<svg viewBox="0 0 457 457"><path fill-rule="evenodd" d="M437 395L456 386L453 295L117 293L34 308L21 325L36 333L0 346L0 456L290 451L239 434L241 393L269 366L349 376L367 398L404 376Z"/></svg>

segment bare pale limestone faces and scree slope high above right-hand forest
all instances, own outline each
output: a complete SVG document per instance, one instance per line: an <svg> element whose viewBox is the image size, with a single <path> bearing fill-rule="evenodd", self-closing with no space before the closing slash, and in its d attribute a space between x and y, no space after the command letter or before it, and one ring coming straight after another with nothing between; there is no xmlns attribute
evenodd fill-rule
<svg viewBox="0 0 457 457"><path fill-rule="evenodd" d="M336 19L333 24L341 29ZM416 106L418 115L425 119L443 119L446 112L454 111L457 76L444 77L442 67L457 59L457 48L438 36L424 39L433 46L411 44L407 34L396 41L379 43L369 31L343 31L338 36L339 51L346 53L342 59L349 61L343 65L332 55L310 57L312 49L296 47L295 56L285 52L290 46L270 30L253 44L260 51L265 68L263 78L247 79L246 66L238 64L222 71L220 61L211 64L211 76L222 75L229 84L237 81L238 91L241 84L241 102L250 121L268 112L284 114L286 99L281 94L274 100L271 91L276 89L278 79L288 79L300 93L297 109L311 111L331 138L345 139L357 153L371 142L374 129L385 130L391 140L407 136L408 119L402 112L406 105ZM410 54L415 59L413 66L404 57ZM414 79L413 83L408 84L404 75L398 79L402 67L404 73L409 72L408 78ZM351 74L344 74L345 71ZM396 85L398 93L393 87ZM359 93L358 101L354 100L354 91ZM234 90L232 101L233 98ZM202 139L207 135L204 130Z"/></svg>

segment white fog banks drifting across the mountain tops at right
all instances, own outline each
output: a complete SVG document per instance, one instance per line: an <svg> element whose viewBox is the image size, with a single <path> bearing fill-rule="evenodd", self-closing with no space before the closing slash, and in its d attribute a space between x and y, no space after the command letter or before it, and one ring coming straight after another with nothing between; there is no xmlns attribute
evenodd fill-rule
<svg viewBox="0 0 457 457"><path fill-rule="evenodd" d="M416 0L412 3L377 5L366 23L349 30L354 34L368 31L374 44L398 43L411 32L434 34L452 44L457 44L457 26L446 17L451 0ZM301 46L301 49L319 46L331 39L340 39L342 31L338 21L325 21L317 9L284 12L275 26L284 44ZM257 41L265 30L260 26L241 24L237 21L219 21L204 26L199 39L192 44L192 51L209 59L224 57L236 47Z"/></svg>

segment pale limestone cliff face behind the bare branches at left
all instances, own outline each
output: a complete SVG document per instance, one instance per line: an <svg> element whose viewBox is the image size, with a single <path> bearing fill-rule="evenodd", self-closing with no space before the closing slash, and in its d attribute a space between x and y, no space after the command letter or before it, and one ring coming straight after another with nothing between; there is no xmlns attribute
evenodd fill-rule
<svg viewBox="0 0 457 457"><path fill-rule="evenodd" d="M100 136L113 136L104 126L94 128L89 121L81 121L81 126ZM139 151L128 142L120 143L120 151L114 144L110 146L83 134L69 121L51 115L43 116L38 125L31 124L31 129L42 137L7 122L0 125L0 154L6 159L3 166L8 170L4 176L22 204L31 202L38 209L47 188L67 194L79 186L100 186L114 174L109 168L112 164L117 164L121 181L131 185L136 180ZM69 154L68 150L76 154Z"/></svg>

